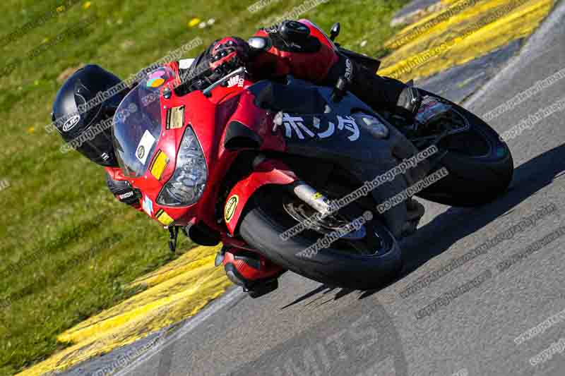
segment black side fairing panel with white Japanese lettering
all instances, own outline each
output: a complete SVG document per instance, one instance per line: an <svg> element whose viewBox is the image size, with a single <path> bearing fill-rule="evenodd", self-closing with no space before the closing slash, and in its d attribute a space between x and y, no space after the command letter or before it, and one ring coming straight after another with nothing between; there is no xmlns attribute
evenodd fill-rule
<svg viewBox="0 0 565 376"><path fill-rule="evenodd" d="M265 88L270 90L266 83L257 85L259 86L255 88L256 95L260 97L261 90ZM283 113L282 124L278 126L278 131L285 137L287 153L306 157L305 163L314 158L332 162L349 171L359 182L362 182L372 180L398 165L400 160L396 155L397 150L402 150L401 154L406 154L406 150L408 154L417 152L414 145L402 133L351 93L335 103L331 101L333 92L331 87L314 86L302 80L291 80L285 92L294 92L295 102L317 103L322 100L323 107L326 107L326 104L329 107L326 111L307 114L305 113L307 111L293 112L294 106L280 105L287 101L278 102L278 109ZM301 96L307 93L318 98L312 101ZM276 101L277 97L272 100ZM316 105L312 108L320 107ZM388 137L374 137L362 120L362 114L379 119L388 128ZM397 176L371 194L377 203L381 203L406 188L408 184L404 176ZM395 236L400 235L407 218L406 214L405 205L393 207L384 214L386 224Z"/></svg>

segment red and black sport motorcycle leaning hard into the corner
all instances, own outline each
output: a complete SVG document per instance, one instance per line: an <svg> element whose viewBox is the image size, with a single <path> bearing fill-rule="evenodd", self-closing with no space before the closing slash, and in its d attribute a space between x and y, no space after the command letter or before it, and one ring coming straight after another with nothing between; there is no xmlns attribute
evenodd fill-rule
<svg viewBox="0 0 565 376"><path fill-rule="evenodd" d="M335 28L329 38L303 22L321 42L378 68L379 61L334 44ZM448 175L420 197L482 205L512 178L511 153L499 135L424 90L417 122L407 124L371 109L344 80L335 87L292 77L253 82L239 68L182 96L174 81L168 68L151 73L114 117L123 173L114 178L141 191L143 210L173 241L182 229L196 243L259 253L331 286L371 289L400 271L397 238L413 220L409 202L379 205L442 169ZM335 205L429 147L436 152L417 167Z"/></svg>

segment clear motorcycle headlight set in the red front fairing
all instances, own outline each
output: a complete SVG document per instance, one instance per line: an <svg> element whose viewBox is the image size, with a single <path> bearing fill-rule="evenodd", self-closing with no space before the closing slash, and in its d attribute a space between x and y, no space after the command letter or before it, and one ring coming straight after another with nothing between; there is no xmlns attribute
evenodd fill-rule
<svg viewBox="0 0 565 376"><path fill-rule="evenodd" d="M194 204L202 197L207 178L206 159L198 138L188 126L177 154L177 167L159 193L157 204L172 207Z"/></svg>

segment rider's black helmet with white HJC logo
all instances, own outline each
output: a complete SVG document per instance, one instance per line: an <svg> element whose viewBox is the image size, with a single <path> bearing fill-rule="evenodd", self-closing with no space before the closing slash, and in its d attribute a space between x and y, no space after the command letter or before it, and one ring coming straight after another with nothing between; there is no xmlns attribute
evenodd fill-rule
<svg viewBox="0 0 565 376"><path fill-rule="evenodd" d="M52 121L65 142L102 166L118 165L112 118L129 91L120 83L116 75L88 65L66 80L53 104Z"/></svg>

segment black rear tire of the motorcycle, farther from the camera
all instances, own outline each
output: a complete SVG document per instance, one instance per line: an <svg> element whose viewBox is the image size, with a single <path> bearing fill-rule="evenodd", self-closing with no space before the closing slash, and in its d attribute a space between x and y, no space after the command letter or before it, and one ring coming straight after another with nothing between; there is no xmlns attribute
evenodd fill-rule
<svg viewBox="0 0 565 376"><path fill-rule="evenodd" d="M420 92L451 104L468 121L470 129L449 135L439 142L439 152L446 151L446 154L441 165L429 174L445 167L449 175L422 190L418 196L444 205L475 207L503 195L510 186L514 171L508 145L475 114L447 99L424 90Z"/></svg>

